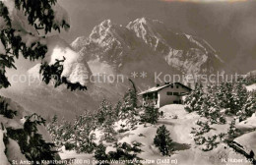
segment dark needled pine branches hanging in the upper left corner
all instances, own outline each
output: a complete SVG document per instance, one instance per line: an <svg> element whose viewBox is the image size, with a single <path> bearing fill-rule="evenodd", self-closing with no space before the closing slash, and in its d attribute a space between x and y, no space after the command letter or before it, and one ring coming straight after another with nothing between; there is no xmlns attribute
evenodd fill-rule
<svg viewBox="0 0 256 165"><path fill-rule="evenodd" d="M52 9L52 6L54 5L56 5L56 0L15 1L15 8L27 16L29 25L34 27L37 32L40 30L44 31L45 34L51 32L53 29L60 31L62 27L65 29L70 27L65 20L59 22L54 20L54 11ZM10 13L4 2L0 2L0 11L2 11L0 17L5 21L5 26L1 27L0 31L0 40L5 48L5 54L0 54L0 61L2 64L0 72L0 88L6 88L11 85L5 75L6 69L16 69L15 59L18 59L20 55L23 55L25 59L29 58L31 61L43 59L47 53L47 46L39 42L45 35L39 35L38 32L38 35L35 36L35 34L32 34L32 31L26 31L26 29L24 29L24 32L28 33L28 35L38 38L37 41L34 41L30 46L27 46L22 37L17 35L17 33L21 33L21 29L19 27L16 29L12 25L12 17L10 17ZM86 87L81 84L69 83L65 81L65 79L59 79L61 77L53 77L53 75L60 76L62 70L63 66L61 61L56 61L53 65L44 63L41 66L40 71L43 76L42 80L45 83L48 83L50 80L54 79L53 81L55 81L56 85L64 83L72 90L86 89Z"/></svg>

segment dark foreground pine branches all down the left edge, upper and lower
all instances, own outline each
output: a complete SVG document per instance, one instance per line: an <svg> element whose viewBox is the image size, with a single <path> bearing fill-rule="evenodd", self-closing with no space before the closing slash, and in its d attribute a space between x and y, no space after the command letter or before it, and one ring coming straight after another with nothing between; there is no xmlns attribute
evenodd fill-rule
<svg viewBox="0 0 256 165"><path fill-rule="evenodd" d="M23 27L23 24L14 26L13 17L9 13L9 1L0 1L0 44L4 48L0 53L0 89L7 88L11 85L6 76L7 69L16 69L15 60L20 56L30 61L44 59L48 48L40 40L45 40L46 34L52 30L58 30L61 28L69 28L65 20L55 21L55 13L52 9L56 5L56 0L41 1L41 0L15 0L13 10L17 10L24 14L27 18L28 25ZM8 6L8 7L7 7ZM31 28L31 27L32 28ZM28 27L28 28L27 28ZM30 29L36 31L33 33ZM37 38L31 44L27 44L24 41L23 36ZM26 40L26 39L25 39ZM65 59L63 59L64 61ZM69 83L65 78L57 79L52 77L53 75L61 78L63 71L63 61L56 61L55 64L44 63L41 65L40 73L43 76L43 81L49 83L51 80L55 82L55 86L60 84L66 84L71 90L74 89L86 89L86 86L80 83ZM55 78L55 79L54 79ZM7 104L2 104L1 113L8 118L12 118L16 113L8 108ZM7 138L13 138L18 141L23 154L31 161L40 160L54 160L55 151L54 144L45 142L41 135L38 134L37 127L39 125L45 125L45 120L36 114L26 117L24 123L24 129L7 128Z"/></svg>

